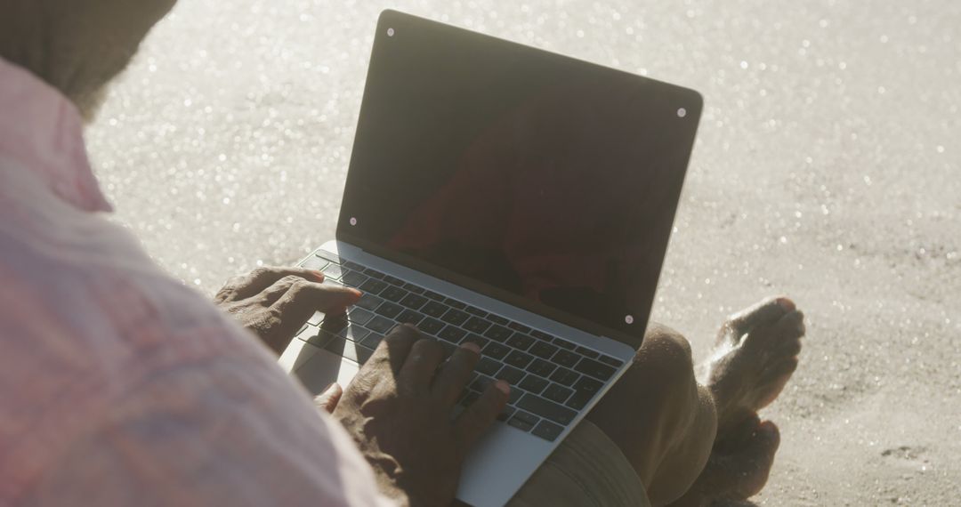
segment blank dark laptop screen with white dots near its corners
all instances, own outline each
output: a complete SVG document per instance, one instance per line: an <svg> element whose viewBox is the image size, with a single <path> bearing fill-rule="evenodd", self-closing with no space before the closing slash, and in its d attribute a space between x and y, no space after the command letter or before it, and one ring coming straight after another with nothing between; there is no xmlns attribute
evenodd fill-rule
<svg viewBox="0 0 961 507"><path fill-rule="evenodd" d="M691 90L384 12L338 238L639 346Z"/></svg>

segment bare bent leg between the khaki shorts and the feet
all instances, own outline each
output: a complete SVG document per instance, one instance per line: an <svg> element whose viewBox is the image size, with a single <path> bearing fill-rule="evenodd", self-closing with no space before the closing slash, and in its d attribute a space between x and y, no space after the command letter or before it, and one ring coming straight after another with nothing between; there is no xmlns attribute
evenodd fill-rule
<svg viewBox="0 0 961 507"><path fill-rule="evenodd" d="M587 419L621 448L653 505L687 492L717 432L714 400L695 380L687 340L656 324L628 372Z"/></svg>

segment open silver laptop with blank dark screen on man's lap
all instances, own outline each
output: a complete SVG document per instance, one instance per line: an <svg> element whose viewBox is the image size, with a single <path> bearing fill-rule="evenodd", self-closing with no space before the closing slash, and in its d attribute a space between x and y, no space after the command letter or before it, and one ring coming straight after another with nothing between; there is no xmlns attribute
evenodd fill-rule
<svg viewBox="0 0 961 507"><path fill-rule="evenodd" d="M452 417L495 379L498 422L457 498L504 505L640 347L701 96L402 12L382 12L335 239L300 265L357 287L281 364L347 386L412 323L481 359Z"/></svg>

